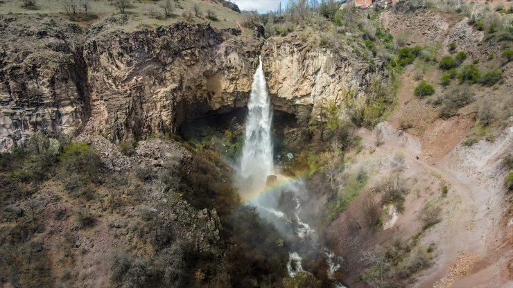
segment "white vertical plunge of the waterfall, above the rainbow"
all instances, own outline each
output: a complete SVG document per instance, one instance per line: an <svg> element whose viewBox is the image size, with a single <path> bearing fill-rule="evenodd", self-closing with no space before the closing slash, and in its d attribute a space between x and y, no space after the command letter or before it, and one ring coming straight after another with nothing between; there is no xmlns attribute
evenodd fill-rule
<svg viewBox="0 0 513 288"><path fill-rule="evenodd" d="M262 59L253 75L250 101L247 103L244 145L241 154L240 177L246 188L261 188L273 173L271 122L266 77L263 75Z"/></svg>

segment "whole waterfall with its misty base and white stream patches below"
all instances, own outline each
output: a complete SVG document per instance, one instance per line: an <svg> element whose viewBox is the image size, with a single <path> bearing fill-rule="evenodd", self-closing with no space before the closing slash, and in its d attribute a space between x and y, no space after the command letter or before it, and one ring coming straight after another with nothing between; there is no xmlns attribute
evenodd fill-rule
<svg viewBox="0 0 513 288"><path fill-rule="evenodd" d="M315 242L315 237L313 237L315 231L299 217L302 208L299 195L305 190L303 180L288 179L281 175L273 177L277 173L272 160L272 110L261 58L257 71L253 75L247 110L244 144L238 168L238 186L241 197L247 204L256 206L261 215L274 223L279 230L293 234L300 242ZM268 177L275 183L270 183ZM291 195L288 210L280 210L277 203L280 193L283 192L288 192L288 195ZM329 267L329 278L334 280L333 272L340 268L338 258L327 249L322 249L322 251ZM304 271L299 251L289 252L287 269L292 277ZM336 287L344 287L335 280L333 282Z"/></svg>

